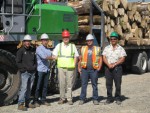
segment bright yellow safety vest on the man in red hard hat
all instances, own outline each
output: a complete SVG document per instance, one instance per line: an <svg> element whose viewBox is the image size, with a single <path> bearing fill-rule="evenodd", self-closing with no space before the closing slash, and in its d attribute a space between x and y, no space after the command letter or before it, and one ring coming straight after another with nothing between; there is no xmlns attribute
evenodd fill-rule
<svg viewBox="0 0 150 113"><path fill-rule="evenodd" d="M67 49L62 49L62 43L60 43L59 54L57 59L57 66L62 68L75 68L74 63L74 48L73 44L69 44Z"/></svg>

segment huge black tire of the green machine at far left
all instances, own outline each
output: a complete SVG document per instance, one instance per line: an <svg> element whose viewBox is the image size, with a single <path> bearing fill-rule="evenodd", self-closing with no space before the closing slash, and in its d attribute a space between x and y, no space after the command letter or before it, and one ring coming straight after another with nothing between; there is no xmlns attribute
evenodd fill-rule
<svg viewBox="0 0 150 113"><path fill-rule="evenodd" d="M0 49L0 105L9 105L17 99L20 83L15 56Z"/></svg>

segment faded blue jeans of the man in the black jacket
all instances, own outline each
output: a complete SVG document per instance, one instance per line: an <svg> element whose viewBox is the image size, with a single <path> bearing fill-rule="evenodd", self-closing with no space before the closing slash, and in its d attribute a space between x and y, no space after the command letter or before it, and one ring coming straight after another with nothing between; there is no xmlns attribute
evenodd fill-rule
<svg viewBox="0 0 150 113"><path fill-rule="evenodd" d="M18 104L25 103L26 101L29 102L31 89L33 86L35 73L28 73L27 71L21 73L21 88L19 92L19 99Z"/></svg>

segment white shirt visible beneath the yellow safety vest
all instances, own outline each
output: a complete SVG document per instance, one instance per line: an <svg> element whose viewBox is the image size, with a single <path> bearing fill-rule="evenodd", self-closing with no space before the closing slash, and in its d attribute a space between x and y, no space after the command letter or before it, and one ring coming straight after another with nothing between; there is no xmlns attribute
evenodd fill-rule
<svg viewBox="0 0 150 113"><path fill-rule="evenodd" d="M69 47L69 44L68 44L68 45L65 45L64 42L62 42L61 49L67 50L68 47ZM74 52L75 52L74 57L78 57L78 56L79 56L79 53L78 53L77 48L76 48L76 46L75 46L74 44L73 44L73 49L74 49ZM59 51L60 51L60 43L57 44L57 46L56 46L55 49L53 50L53 55L54 55L54 56L58 56Z"/></svg>

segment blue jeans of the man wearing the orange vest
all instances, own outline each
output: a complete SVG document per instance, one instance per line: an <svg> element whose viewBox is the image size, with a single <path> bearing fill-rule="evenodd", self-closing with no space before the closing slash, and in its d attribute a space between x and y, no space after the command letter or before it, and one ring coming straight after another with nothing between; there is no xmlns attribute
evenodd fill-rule
<svg viewBox="0 0 150 113"><path fill-rule="evenodd" d="M89 78L91 79L91 83L93 87L93 100L98 100L98 88L97 88L98 75L97 74L98 74L97 70L82 69L81 71L82 88L81 88L80 100L84 101L86 99L86 90L87 90Z"/></svg>

